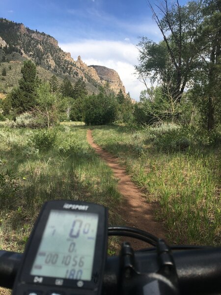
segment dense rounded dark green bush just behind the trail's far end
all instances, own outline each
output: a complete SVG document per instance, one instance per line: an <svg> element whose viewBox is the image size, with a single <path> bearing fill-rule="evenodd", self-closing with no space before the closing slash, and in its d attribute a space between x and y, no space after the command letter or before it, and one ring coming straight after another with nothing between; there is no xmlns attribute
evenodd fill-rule
<svg viewBox="0 0 221 295"><path fill-rule="evenodd" d="M115 97L100 92L85 100L84 121L86 125L104 125L112 123L117 116Z"/></svg>

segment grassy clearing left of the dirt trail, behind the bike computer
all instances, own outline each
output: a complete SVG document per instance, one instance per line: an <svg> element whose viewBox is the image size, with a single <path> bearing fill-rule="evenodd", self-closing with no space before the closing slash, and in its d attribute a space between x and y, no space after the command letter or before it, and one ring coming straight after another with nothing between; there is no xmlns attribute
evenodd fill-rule
<svg viewBox="0 0 221 295"><path fill-rule="evenodd" d="M47 200L82 200L119 216L117 181L86 142L86 128L64 124L50 149L38 149L37 130L0 127L0 249L23 251L33 222ZM114 243L114 242L113 242Z"/></svg>

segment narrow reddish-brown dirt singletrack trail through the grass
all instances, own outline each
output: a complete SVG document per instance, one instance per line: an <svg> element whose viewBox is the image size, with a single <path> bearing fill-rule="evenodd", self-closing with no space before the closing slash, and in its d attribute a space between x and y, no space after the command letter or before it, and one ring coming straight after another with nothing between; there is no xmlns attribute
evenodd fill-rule
<svg viewBox="0 0 221 295"><path fill-rule="evenodd" d="M125 225L165 238L163 225L154 218L155 205L145 201L142 191L131 181L125 168L119 165L117 159L94 143L91 130L87 130L87 141L111 167L114 177L119 179L118 190L123 197L120 207L116 210L125 221ZM126 238L126 240L131 243L134 250L148 247L148 244L137 239Z"/></svg>

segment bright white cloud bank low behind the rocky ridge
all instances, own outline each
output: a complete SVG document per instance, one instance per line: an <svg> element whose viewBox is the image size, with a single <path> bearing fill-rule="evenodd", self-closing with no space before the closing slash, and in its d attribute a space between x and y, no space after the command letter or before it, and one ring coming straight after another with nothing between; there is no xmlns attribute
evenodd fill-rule
<svg viewBox="0 0 221 295"><path fill-rule="evenodd" d="M128 42L106 40L82 40L59 44L62 50L70 52L73 59L80 55L87 65L103 65L117 71L126 91L139 100L143 84L135 76L134 65L138 64L138 48Z"/></svg>

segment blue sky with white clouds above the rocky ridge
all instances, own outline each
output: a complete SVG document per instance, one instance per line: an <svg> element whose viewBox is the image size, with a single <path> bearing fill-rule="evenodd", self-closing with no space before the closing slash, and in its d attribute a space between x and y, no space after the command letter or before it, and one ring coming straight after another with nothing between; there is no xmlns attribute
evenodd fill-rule
<svg viewBox="0 0 221 295"><path fill-rule="evenodd" d="M147 0L0 0L0 17L55 37L75 60L116 70L137 101L145 89L134 67L138 37L162 39Z"/></svg>

